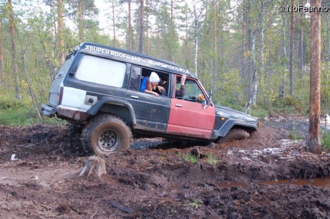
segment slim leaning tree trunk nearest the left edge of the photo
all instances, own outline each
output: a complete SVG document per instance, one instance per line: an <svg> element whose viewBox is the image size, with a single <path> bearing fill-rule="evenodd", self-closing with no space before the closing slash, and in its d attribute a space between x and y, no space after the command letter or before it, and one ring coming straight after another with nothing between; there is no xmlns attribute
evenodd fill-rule
<svg viewBox="0 0 330 219"><path fill-rule="evenodd" d="M15 43L15 23L14 23L14 12L12 10L12 0L8 0L9 6L9 21L10 21L10 39L12 41L12 65L14 72L15 81L15 93L16 99L21 100L21 89L19 88L19 66L16 57L16 43Z"/></svg>

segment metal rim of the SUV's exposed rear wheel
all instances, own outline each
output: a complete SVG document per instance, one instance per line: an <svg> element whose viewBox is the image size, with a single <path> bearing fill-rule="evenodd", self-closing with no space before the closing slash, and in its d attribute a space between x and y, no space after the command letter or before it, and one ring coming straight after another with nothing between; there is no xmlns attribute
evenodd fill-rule
<svg viewBox="0 0 330 219"><path fill-rule="evenodd" d="M118 148L118 144L120 142L120 137L118 132L115 130L105 130L98 137L98 146L100 146L101 150L111 152Z"/></svg>

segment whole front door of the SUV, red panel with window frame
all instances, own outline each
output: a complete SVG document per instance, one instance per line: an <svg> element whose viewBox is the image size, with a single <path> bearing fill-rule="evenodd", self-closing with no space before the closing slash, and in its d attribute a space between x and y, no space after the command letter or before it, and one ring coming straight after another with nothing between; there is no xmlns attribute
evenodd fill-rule
<svg viewBox="0 0 330 219"><path fill-rule="evenodd" d="M180 89L179 78L181 77L175 78L177 86L173 88ZM198 100L198 95L207 97L199 82L193 78L186 79L183 97L175 97L175 91L173 91L166 133L210 139L214 128L215 109L211 104L206 106L209 102L207 98L204 100L206 104Z"/></svg>

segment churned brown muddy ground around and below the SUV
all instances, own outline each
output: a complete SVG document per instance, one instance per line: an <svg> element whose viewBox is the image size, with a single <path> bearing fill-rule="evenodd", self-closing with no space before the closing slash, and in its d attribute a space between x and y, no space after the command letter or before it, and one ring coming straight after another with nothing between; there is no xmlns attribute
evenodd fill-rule
<svg viewBox="0 0 330 219"><path fill-rule="evenodd" d="M294 183L329 183L330 155L288 135L271 118L250 139L211 146L135 139L104 157L99 179L78 176L88 157L67 127L0 126L0 218L330 218L329 187Z"/></svg>

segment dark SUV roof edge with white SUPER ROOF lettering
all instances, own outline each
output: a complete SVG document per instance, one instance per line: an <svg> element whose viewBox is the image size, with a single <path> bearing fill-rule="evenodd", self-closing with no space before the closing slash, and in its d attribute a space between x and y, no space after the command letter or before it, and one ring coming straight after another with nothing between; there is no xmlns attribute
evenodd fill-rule
<svg viewBox="0 0 330 219"><path fill-rule="evenodd" d="M186 67L181 67L173 62L162 60L160 58L155 58L152 56L146 56L144 54L139 54L133 51L127 51L125 49L118 49L115 47L110 47L107 45L100 45L98 43L85 42L81 43L75 50L80 51L93 51L93 53L100 53L103 56L117 56L117 58L129 59L131 62L140 62L140 65L153 66L157 69L164 69L165 71L170 71L178 74L184 74L191 78L196 78L194 73L189 71Z"/></svg>

